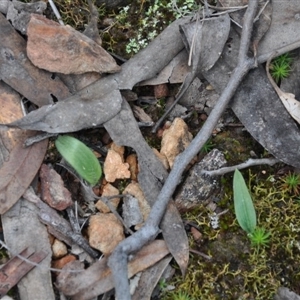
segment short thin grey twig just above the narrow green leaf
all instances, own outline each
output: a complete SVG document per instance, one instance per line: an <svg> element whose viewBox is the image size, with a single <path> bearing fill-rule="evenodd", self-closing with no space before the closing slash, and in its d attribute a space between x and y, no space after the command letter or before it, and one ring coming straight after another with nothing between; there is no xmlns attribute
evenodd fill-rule
<svg viewBox="0 0 300 300"><path fill-rule="evenodd" d="M231 167L224 167L224 168L220 168L218 170L211 170L211 171L203 170L202 173L209 175L209 176L220 176L220 175L224 175L229 172L233 172L235 169L241 170L241 169L249 168L252 166L259 166L259 165L273 166L274 164L276 164L278 162L279 162L279 160L276 158L261 158L261 159L250 158L247 161L245 161L239 165L235 165L235 166L231 166Z"/></svg>

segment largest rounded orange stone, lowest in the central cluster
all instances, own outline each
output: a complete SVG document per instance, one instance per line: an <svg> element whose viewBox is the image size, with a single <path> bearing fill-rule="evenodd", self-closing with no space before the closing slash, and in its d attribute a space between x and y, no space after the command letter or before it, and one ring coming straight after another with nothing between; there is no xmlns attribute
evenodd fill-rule
<svg viewBox="0 0 300 300"><path fill-rule="evenodd" d="M104 255L109 255L125 238L122 224L112 213L91 216L88 236L91 247Z"/></svg>

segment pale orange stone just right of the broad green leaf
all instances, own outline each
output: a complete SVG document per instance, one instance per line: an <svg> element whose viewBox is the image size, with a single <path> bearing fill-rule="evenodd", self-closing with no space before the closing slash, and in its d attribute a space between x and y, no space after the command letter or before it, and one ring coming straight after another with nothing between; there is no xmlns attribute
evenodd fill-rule
<svg viewBox="0 0 300 300"><path fill-rule="evenodd" d="M107 182L130 178L129 164L124 163L122 156L112 149L109 149L107 152L103 172Z"/></svg>

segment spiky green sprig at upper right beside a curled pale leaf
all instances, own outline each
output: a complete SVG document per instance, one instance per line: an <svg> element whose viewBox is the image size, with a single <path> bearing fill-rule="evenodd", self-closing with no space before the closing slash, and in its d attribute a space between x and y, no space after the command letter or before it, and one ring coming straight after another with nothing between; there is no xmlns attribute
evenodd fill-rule
<svg viewBox="0 0 300 300"><path fill-rule="evenodd" d="M276 57L270 65L270 73L276 83L287 78L291 72L292 57L289 53Z"/></svg>

